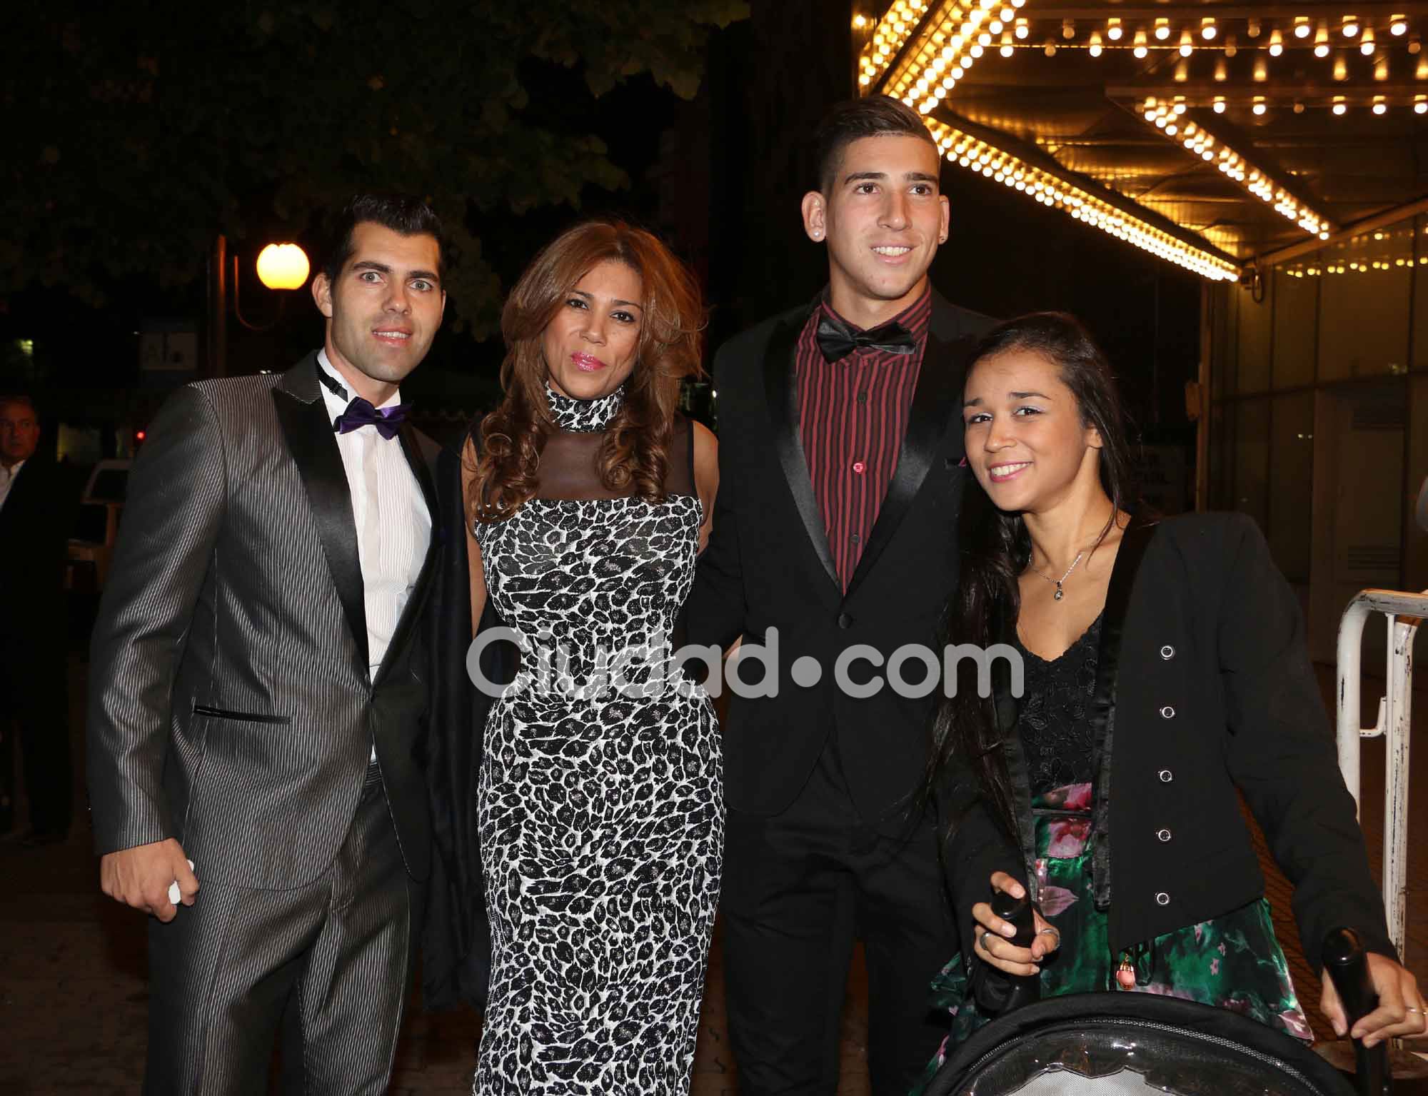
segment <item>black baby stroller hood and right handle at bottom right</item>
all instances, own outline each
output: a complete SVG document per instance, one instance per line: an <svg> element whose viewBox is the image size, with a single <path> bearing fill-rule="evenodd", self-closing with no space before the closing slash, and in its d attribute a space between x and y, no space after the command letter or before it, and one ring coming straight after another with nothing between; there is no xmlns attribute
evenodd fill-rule
<svg viewBox="0 0 1428 1096"><path fill-rule="evenodd" d="M1349 1015L1372 1012L1354 933L1332 933L1324 958ZM948 1056L924 1096L1384 1096L1387 1050L1355 1046L1355 1087L1298 1040L1238 1013L1148 993L1077 993L998 1016Z"/></svg>

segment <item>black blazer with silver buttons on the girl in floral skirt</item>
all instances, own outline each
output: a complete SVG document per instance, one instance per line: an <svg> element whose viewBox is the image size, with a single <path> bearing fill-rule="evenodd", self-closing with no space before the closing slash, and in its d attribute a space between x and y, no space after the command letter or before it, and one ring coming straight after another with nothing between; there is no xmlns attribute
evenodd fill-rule
<svg viewBox="0 0 1428 1096"><path fill-rule="evenodd" d="M1115 952L1264 895L1235 788L1294 883L1305 955L1334 928L1394 955L1298 601L1252 519L1190 514L1125 532L1107 591L1092 702L1097 906ZM1030 872L1015 705L995 705L1018 788L1018 849L978 803L947 859L962 939L988 878ZM970 959L968 953L964 958Z"/></svg>

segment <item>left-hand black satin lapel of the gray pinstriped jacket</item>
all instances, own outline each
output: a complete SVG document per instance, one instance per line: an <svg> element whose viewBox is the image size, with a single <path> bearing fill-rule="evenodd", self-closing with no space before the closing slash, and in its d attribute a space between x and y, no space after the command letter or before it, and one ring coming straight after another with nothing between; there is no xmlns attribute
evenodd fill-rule
<svg viewBox="0 0 1428 1096"><path fill-rule="evenodd" d="M337 451L337 435L327 418L327 405L320 397L304 402L283 390L273 391L273 402L277 405L278 422L283 424L287 450L303 477L337 598L343 604L361 671L366 674L367 611L363 601L361 559L357 555L357 521L353 518L351 491L347 487L343 455Z"/></svg>

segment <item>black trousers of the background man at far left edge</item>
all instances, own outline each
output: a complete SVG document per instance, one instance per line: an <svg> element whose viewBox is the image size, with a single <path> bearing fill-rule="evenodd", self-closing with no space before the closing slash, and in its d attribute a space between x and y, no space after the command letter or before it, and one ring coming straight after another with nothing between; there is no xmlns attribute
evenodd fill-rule
<svg viewBox="0 0 1428 1096"><path fill-rule="evenodd" d="M61 607L63 608L63 607ZM36 833L70 831L74 773L70 766L69 652L64 632L49 626L19 629L0 642L0 831L14 825L14 742L19 729L24 793Z"/></svg>

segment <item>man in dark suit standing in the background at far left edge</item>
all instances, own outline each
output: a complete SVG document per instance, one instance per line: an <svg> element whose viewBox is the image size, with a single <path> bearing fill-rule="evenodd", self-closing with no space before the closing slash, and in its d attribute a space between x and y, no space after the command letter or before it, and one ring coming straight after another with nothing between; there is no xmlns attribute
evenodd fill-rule
<svg viewBox="0 0 1428 1096"><path fill-rule="evenodd" d="M30 801L27 845L70 831L70 721L64 555L73 491L37 452L40 417L27 395L0 395L0 831L14 826L14 731Z"/></svg>

